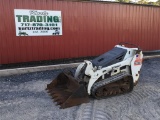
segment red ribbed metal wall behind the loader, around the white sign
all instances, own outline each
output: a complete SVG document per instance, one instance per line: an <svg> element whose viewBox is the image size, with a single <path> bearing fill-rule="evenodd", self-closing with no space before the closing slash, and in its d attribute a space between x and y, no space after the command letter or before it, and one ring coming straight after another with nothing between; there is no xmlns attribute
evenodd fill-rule
<svg viewBox="0 0 160 120"><path fill-rule="evenodd" d="M61 36L16 36L14 9L60 10ZM54 0L1 0L0 64L96 56L127 41L160 49L160 8Z"/></svg>

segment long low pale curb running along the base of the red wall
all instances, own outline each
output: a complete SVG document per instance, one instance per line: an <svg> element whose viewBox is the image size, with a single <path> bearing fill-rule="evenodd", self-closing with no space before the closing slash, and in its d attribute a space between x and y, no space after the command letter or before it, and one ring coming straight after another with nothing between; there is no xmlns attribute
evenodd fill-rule
<svg viewBox="0 0 160 120"><path fill-rule="evenodd" d="M152 56L144 56L144 60L151 58L158 58L160 55L152 55ZM15 68L15 69L5 69L0 70L0 76L9 76L9 75L17 75L38 71L46 71L46 70L56 70L56 69L64 69L67 67L77 67L79 63L70 63L70 64L59 64L59 65L47 65L47 66L36 66L36 67L25 67L25 68Z"/></svg>

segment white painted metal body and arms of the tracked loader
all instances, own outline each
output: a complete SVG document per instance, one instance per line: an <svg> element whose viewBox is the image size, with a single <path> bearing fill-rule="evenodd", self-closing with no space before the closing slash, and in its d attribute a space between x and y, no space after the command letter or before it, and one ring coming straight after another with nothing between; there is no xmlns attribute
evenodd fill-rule
<svg viewBox="0 0 160 120"><path fill-rule="evenodd" d="M116 75L120 72L128 72L133 77L133 83L136 84L139 79L140 69L142 67L143 54L142 51L139 51L138 48L127 48L125 46L116 45L115 48L120 48L126 50L125 56L121 62L109 66L94 66L92 61L85 60L84 63L81 63L75 72L75 78L78 78L81 69L85 68L85 75L89 76L89 83L87 87L87 92L91 94L91 88L93 84L100 78L104 78L105 74L110 74L111 76ZM101 59L100 59L101 61ZM124 68L124 69L122 69Z"/></svg>

